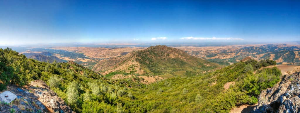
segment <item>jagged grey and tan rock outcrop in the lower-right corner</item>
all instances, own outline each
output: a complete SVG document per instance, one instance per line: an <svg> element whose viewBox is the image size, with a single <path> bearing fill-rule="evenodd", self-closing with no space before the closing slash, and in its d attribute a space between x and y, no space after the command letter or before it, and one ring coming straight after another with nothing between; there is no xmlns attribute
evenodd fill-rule
<svg viewBox="0 0 300 113"><path fill-rule="evenodd" d="M279 84L263 90L254 113L299 113L300 72L285 75Z"/></svg>

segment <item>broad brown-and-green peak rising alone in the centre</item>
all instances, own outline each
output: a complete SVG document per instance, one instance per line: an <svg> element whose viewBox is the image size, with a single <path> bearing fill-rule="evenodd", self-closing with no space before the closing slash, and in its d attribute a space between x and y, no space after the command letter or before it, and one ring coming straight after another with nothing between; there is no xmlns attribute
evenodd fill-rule
<svg viewBox="0 0 300 113"><path fill-rule="evenodd" d="M125 72L139 75L159 75L161 77L190 76L208 72L219 65L188 55L164 45L132 51L124 56L101 60L93 70L104 75Z"/></svg>

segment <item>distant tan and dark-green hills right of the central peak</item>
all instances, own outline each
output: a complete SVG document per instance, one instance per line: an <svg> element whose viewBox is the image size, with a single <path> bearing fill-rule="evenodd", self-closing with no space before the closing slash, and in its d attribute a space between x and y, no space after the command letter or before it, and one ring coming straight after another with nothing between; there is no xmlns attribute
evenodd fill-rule
<svg viewBox="0 0 300 113"><path fill-rule="evenodd" d="M237 63L245 57L255 60L275 60L277 64L299 65L300 45L292 44L257 44L257 45L229 45L209 47L176 47L188 54L219 63L229 65Z"/></svg>

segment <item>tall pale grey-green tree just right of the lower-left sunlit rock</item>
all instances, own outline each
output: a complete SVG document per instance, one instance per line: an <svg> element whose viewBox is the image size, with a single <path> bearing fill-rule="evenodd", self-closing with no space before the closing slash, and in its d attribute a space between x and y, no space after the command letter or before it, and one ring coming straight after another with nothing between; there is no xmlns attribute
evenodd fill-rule
<svg viewBox="0 0 300 113"><path fill-rule="evenodd" d="M67 90L67 100L70 104L75 104L77 102L77 98L79 97L78 96L78 88L79 88L79 85L76 81L73 81L69 87L68 87L68 90Z"/></svg>

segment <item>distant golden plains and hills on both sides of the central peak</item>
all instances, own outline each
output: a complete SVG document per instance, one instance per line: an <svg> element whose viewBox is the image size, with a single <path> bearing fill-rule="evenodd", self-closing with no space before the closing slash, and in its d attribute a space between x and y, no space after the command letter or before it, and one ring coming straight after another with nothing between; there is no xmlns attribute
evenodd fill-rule
<svg viewBox="0 0 300 113"><path fill-rule="evenodd" d="M93 69L100 60L125 56L131 51L145 50L141 45L117 45L118 47L43 47L19 50L20 53L50 52L51 56L62 61L73 60L82 66ZM129 46L129 47L128 47ZM228 66L245 57L255 60L275 60L282 65L300 65L298 44L255 44L227 46L168 45L213 63ZM27 56L29 57L29 56ZM57 59L55 58L55 59ZM37 58L35 58L37 60ZM43 58L47 59L47 58ZM49 58L48 58L49 59ZM53 58L52 58L53 59ZM39 60L47 61L47 60Z"/></svg>

